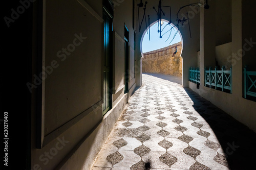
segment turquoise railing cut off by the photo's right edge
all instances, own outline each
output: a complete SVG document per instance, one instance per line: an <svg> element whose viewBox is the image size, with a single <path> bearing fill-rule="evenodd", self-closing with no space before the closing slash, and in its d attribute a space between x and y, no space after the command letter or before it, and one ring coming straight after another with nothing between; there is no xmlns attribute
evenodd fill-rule
<svg viewBox="0 0 256 170"><path fill-rule="evenodd" d="M256 71L248 71L247 66L244 67L244 98L247 95L256 97ZM254 88L253 88L254 87Z"/></svg>

